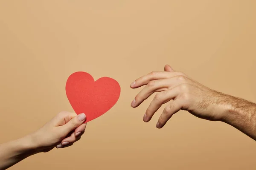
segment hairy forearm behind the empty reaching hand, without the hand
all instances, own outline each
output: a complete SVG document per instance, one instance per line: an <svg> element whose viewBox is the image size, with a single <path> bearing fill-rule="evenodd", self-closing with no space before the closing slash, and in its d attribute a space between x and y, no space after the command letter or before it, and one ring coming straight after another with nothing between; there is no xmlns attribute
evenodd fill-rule
<svg viewBox="0 0 256 170"><path fill-rule="evenodd" d="M256 104L230 96L222 122L256 140Z"/></svg>

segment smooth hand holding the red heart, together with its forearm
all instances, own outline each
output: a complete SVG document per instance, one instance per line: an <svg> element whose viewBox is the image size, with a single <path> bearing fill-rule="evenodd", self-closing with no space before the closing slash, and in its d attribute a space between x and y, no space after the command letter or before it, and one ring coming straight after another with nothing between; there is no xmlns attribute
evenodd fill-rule
<svg viewBox="0 0 256 170"><path fill-rule="evenodd" d="M85 118L84 113L61 112L34 133L0 144L0 170L36 153L71 146L84 134Z"/></svg>

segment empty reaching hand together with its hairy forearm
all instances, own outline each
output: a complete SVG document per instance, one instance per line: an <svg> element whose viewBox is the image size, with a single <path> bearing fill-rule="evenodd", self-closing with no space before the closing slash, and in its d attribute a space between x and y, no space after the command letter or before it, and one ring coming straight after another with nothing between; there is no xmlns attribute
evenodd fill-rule
<svg viewBox="0 0 256 170"><path fill-rule="evenodd" d="M153 71L136 79L130 86L144 85L131 106L136 108L151 94L159 92L143 117L145 122L150 121L161 105L168 102L157 128L162 128L173 114L186 110L202 119L226 122L256 139L256 105L252 102L209 89L169 65L164 71Z"/></svg>

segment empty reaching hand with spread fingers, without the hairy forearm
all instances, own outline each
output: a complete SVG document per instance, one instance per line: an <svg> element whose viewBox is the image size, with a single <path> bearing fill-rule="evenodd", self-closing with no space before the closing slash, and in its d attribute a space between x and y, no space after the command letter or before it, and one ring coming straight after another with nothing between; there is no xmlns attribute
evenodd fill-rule
<svg viewBox="0 0 256 170"><path fill-rule="evenodd" d="M134 108L154 92L159 92L145 112L145 122L150 121L161 105L168 102L158 119L157 128L162 128L172 115L180 110L189 111L202 119L221 120L229 108L225 101L233 98L201 85L186 74L174 71L169 65L165 66L164 71L153 71L136 79L130 86L139 88L143 85L145 87L131 103Z"/></svg>

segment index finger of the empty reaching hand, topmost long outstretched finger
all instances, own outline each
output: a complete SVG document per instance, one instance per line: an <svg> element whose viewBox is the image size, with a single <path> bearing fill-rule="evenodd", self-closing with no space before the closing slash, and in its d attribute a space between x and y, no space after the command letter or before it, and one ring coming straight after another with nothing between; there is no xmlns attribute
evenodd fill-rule
<svg viewBox="0 0 256 170"><path fill-rule="evenodd" d="M147 85L152 80L166 79L166 78L171 78L175 76L186 76L186 75L183 74L182 72L152 71L151 73L136 79L133 83L131 83L130 87L139 88L143 85Z"/></svg>

